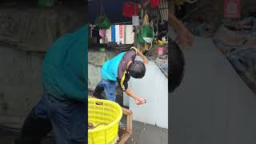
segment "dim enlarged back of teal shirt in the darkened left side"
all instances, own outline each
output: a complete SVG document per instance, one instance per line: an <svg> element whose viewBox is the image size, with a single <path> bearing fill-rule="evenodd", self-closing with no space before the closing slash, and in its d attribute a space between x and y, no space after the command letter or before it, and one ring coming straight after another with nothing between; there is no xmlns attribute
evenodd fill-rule
<svg viewBox="0 0 256 144"><path fill-rule="evenodd" d="M42 82L59 99L86 101L88 26L58 38L46 54Z"/></svg>

